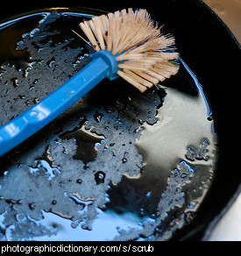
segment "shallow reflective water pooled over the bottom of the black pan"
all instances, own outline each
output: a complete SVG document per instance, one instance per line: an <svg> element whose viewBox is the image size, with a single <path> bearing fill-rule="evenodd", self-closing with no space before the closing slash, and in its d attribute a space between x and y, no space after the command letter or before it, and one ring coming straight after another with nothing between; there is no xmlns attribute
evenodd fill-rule
<svg viewBox="0 0 241 256"><path fill-rule="evenodd" d="M92 50L71 31L83 18L49 10L1 25L1 125L89 62ZM1 159L1 239L171 238L212 181L213 122L183 61L143 95L104 80Z"/></svg>

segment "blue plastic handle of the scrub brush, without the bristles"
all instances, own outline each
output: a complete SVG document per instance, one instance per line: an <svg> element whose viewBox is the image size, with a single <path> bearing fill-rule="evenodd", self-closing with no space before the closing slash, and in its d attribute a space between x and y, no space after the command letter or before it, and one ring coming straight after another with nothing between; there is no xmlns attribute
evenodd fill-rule
<svg viewBox="0 0 241 256"><path fill-rule="evenodd" d="M117 60L110 52L103 50L90 57L89 64L67 82L0 128L0 156L60 116L103 78L117 77Z"/></svg>

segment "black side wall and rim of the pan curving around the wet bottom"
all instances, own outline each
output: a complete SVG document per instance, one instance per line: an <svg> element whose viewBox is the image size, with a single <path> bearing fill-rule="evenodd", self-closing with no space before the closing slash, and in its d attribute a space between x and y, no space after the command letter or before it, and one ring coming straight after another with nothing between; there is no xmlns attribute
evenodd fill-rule
<svg viewBox="0 0 241 256"><path fill-rule="evenodd" d="M195 212L192 221L174 231L171 240L200 240L210 222L229 207L240 191L238 132L240 81L240 46L216 14L198 0L159 0L82 2L41 1L41 4L6 3L0 18L9 18L21 12L48 7L86 7L103 11L116 11L127 7L145 8L165 29L174 34L181 57L198 77L209 100L211 118L217 134L217 160L214 179ZM95 14L95 11L93 11ZM4 159L6 160L6 159ZM101 173L100 177L101 177ZM97 178L96 178L97 179ZM30 206L31 207L31 206ZM32 204L32 207L34 205Z"/></svg>

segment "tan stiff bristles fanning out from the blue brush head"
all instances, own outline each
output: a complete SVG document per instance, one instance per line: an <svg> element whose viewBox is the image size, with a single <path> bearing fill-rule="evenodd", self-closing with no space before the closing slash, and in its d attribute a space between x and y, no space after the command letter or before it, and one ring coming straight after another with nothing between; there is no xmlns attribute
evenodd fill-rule
<svg viewBox="0 0 241 256"><path fill-rule="evenodd" d="M96 51L117 55L117 74L141 92L178 72L174 37L162 34L143 9L116 11L80 26Z"/></svg>

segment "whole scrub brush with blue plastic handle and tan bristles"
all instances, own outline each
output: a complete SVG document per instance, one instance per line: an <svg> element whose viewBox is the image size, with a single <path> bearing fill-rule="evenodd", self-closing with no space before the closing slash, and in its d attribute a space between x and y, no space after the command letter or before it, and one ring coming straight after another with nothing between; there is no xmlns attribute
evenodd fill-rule
<svg viewBox="0 0 241 256"><path fill-rule="evenodd" d="M53 121L104 78L121 76L143 93L178 72L174 37L162 34L143 9L94 17L80 27L96 53L67 82L0 128L0 156Z"/></svg>

